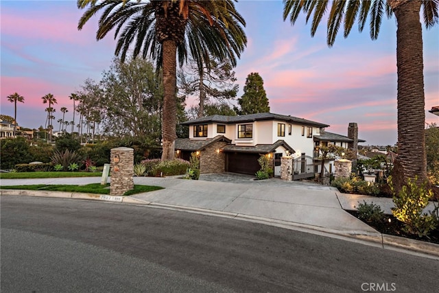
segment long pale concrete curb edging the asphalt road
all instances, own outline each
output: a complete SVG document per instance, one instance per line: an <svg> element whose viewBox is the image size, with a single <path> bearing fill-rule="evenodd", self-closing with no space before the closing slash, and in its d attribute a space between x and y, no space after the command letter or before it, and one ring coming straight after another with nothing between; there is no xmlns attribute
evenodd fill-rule
<svg viewBox="0 0 439 293"><path fill-rule="evenodd" d="M230 218L235 220L243 220L247 222L257 222L259 224L267 224L277 226L279 228L287 228L294 231L344 239L351 242L366 244L370 246L381 247L388 250L396 250L402 253L411 253L420 257L429 257L439 260L439 244L423 242L419 240L387 235L383 233L368 233L365 231L338 231L320 226L311 226L307 224L299 224L294 222L286 222L270 218L262 218L253 215L245 215L241 213L230 213L225 211L215 211L210 209L201 209L195 207L184 207L174 204L161 204L156 202L146 202L131 198L130 196L108 196L105 194L82 194L75 192L62 191L31 191L18 189L0 189L0 196L31 196L45 198L72 198L82 200L99 200L104 202L120 202L124 204L136 204L145 207L154 207L158 209L170 209L173 211L185 211L189 213L198 213L202 215L213 215L216 217Z"/></svg>

